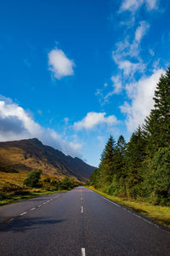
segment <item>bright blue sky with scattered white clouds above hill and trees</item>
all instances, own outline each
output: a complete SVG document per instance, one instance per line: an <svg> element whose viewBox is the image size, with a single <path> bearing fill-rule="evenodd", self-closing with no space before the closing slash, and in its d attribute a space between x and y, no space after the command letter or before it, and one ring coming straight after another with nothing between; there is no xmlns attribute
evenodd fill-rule
<svg viewBox="0 0 170 256"><path fill-rule="evenodd" d="M0 141L37 137L99 165L131 134L170 67L167 0L0 3Z"/></svg>

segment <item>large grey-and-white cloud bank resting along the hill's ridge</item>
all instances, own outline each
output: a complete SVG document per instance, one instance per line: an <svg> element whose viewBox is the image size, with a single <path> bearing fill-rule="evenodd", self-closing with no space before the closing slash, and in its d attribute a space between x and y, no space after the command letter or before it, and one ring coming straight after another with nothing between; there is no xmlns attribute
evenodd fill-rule
<svg viewBox="0 0 170 256"><path fill-rule="evenodd" d="M68 142L56 131L43 128L31 114L10 99L0 96L0 141L37 137L42 143L58 148L65 154L79 156L80 143Z"/></svg>

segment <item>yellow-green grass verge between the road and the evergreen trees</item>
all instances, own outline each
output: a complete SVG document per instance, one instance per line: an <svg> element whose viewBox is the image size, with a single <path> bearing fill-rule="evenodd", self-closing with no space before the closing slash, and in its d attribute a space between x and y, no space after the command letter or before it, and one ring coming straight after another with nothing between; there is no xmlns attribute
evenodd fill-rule
<svg viewBox="0 0 170 256"><path fill-rule="evenodd" d="M111 201L115 201L120 205L133 210L134 212L138 212L139 214L170 228L170 207L154 206L150 203L143 202L143 201L133 201L133 200L128 200L126 198L107 195L104 192L99 191L98 189L94 189L94 187L92 186L89 186L87 188L93 190L99 195L105 196Z"/></svg>

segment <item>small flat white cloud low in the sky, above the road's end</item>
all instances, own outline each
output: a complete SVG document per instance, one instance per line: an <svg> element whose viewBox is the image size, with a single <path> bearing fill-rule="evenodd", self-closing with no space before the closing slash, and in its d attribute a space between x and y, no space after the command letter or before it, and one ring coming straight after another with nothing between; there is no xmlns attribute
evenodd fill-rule
<svg viewBox="0 0 170 256"><path fill-rule="evenodd" d="M105 117L105 114L89 112L81 121L75 122L73 127L75 130L80 131L82 129L93 129L95 125L116 125L118 123L115 115Z"/></svg>

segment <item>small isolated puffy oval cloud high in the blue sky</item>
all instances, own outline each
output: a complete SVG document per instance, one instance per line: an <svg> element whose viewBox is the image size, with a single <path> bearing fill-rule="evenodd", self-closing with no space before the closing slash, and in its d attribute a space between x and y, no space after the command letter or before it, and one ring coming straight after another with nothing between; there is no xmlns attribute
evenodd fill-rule
<svg viewBox="0 0 170 256"><path fill-rule="evenodd" d="M54 78L61 79L73 75L74 61L69 60L62 49L52 49L48 53L48 68L54 74Z"/></svg>

